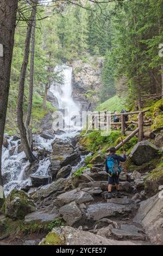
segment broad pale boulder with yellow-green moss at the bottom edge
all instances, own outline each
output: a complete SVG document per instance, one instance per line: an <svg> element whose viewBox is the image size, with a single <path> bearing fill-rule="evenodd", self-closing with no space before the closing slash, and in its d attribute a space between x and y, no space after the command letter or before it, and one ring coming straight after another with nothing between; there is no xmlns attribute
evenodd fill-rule
<svg viewBox="0 0 163 256"><path fill-rule="evenodd" d="M141 243L140 243L141 244ZM100 235L95 235L88 231L75 229L72 227L55 228L50 232L45 239L40 242L40 245L135 245L131 241L117 241L106 239ZM136 243L139 245L139 243Z"/></svg>

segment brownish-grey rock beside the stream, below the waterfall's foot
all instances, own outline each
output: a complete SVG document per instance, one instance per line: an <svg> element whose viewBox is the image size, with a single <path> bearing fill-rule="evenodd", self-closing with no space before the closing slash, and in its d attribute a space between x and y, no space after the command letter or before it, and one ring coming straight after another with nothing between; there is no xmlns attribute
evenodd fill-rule
<svg viewBox="0 0 163 256"><path fill-rule="evenodd" d="M65 141L64 139L55 138L52 142L53 155L63 155L71 154L74 151L71 143Z"/></svg>

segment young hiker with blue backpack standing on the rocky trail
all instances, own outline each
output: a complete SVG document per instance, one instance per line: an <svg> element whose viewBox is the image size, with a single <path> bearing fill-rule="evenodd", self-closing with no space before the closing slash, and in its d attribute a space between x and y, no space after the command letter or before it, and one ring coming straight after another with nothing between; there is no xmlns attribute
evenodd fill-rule
<svg viewBox="0 0 163 256"><path fill-rule="evenodd" d="M106 157L105 160L105 170L106 173L109 174L109 179L108 179L108 198L112 198L112 185L116 185L116 196L118 198L121 197L120 193L120 182L119 182L119 176L121 173L121 167L120 167L120 162L125 162L126 161L126 152L123 151L123 157L116 155L116 148L112 147L109 149L109 155Z"/></svg>

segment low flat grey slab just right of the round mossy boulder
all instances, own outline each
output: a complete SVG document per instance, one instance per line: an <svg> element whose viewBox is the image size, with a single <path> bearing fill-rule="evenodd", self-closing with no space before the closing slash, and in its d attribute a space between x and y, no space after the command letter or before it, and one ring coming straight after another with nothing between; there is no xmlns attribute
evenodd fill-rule
<svg viewBox="0 0 163 256"><path fill-rule="evenodd" d="M57 209L53 212L46 212L46 211L40 210L40 211L35 211L32 214L26 215L24 222L30 223L34 221L39 221L41 223L45 223L45 222L48 223L48 222L52 222L53 220L59 217L60 217L60 214Z"/></svg>

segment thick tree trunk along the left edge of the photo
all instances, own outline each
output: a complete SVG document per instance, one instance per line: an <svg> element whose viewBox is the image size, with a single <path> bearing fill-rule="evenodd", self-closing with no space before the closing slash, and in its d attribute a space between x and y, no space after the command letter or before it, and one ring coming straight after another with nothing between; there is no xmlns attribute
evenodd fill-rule
<svg viewBox="0 0 163 256"><path fill-rule="evenodd" d="M10 88L11 60L14 46L18 0L1 0L0 8L0 186L2 186L2 144Z"/></svg>

